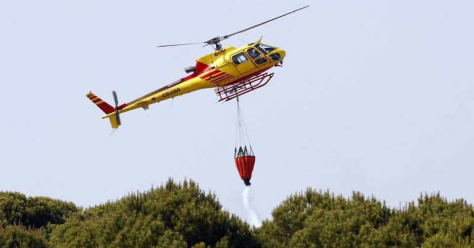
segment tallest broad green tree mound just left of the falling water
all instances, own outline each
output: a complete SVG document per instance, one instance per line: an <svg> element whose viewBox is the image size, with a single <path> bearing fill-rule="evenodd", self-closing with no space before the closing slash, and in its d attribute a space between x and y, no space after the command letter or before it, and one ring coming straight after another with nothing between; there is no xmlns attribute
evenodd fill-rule
<svg viewBox="0 0 474 248"><path fill-rule="evenodd" d="M257 247L249 226L193 181L137 192L53 228L52 247Z"/></svg>

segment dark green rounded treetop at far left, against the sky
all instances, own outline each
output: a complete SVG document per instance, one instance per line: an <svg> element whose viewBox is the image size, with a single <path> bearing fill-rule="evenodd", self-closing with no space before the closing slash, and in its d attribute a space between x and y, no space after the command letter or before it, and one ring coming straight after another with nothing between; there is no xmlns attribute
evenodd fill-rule
<svg viewBox="0 0 474 248"><path fill-rule="evenodd" d="M0 226L40 228L48 223L62 224L78 211L74 203L48 197L27 198L16 192L0 192Z"/></svg>

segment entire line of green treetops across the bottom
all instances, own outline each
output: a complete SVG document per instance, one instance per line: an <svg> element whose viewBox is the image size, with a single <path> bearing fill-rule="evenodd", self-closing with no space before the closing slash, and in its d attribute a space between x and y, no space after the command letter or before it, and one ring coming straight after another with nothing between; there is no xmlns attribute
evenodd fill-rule
<svg viewBox="0 0 474 248"><path fill-rule="evenodd" d="M308 188L255 228L192 180L87 209L0 192L0 248L470 248L473 238L473 206L439 193L389 208L360 192Z"/></svg>

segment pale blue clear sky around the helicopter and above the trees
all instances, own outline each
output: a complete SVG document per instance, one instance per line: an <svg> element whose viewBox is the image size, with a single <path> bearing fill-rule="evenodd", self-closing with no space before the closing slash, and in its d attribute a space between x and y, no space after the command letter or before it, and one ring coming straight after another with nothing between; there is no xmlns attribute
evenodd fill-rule
<svg viewBox="0 0 474 248"><path fill-rule="evenodd" d="M0 2L0 190L90 206L169 177L196 180L247 218L233 163L235 102L212 90L110 124L85 97L120 102L175 81L199 42L311 7L223 42L263 35L284 67L241 97L264 218L306 187L393 207L421 192L474 202L474 2Z"/></svg>

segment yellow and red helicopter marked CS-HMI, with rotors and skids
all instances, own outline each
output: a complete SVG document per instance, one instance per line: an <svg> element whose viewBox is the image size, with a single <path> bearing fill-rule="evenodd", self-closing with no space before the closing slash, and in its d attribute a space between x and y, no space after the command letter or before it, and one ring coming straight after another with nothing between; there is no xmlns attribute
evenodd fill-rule
<svg viewBox="0 0 474 248"><path fill-rule="evenodd" d="M87 93L86 97L105 113L102 119L109 118L112 128L118 128L121 125L120 114L124 112L138 108L147 110L150 104L201 89L215 88L219 101L232 100L239 95L265 86L274 76L274 73L269 73L268 70L275 66L282 66L286 52L281 48L261 43L262 38L238 48L232 46L223 48L221 41L307 7L309 5L252 27L224 36L217 36L204 42L157 46L172 47L204 44L203 47L212 46L214 52L197 59L195 66L186 67L184 70L189 74L188 76L131 102L119 105L115 91L112 92L115 107L92 92Z"/></svg>

